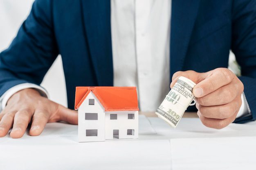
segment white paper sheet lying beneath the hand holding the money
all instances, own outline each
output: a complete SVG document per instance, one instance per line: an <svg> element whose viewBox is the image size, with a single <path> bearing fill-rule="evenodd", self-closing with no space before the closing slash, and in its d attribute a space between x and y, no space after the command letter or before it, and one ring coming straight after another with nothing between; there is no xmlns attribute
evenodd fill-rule
<svg viewBox="0 0 256 170"><path fill-rule="evenodd" d="M159 139L198 138L198 137L245 137L256 136L256 122L229 124L224 129L211 129L202 124L199 118L182 118L176 129L159 118L148 118Z"/></svg>

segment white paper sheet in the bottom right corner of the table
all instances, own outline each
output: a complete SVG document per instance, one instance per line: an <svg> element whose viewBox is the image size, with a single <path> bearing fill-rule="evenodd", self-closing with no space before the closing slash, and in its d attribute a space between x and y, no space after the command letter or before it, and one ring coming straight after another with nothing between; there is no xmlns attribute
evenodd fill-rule
<svg viewBox="0 0 256 170"><path fill-rule="evenodd" d="M173 170L255 170L256 137L171 139Z"/></svg>

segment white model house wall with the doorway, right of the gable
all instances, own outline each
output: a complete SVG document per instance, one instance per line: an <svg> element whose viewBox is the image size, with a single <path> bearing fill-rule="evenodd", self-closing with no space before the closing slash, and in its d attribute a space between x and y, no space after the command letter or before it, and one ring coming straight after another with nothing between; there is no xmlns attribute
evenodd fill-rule
<svg viewBox="0 0 256 170"><path fill-rule="evenodd" d="M134 119L128 119L128 114ZM119 130L119 139L138 138L138 111L106 111L106 139L113 139L113 130ZM110 114L117 114L117 120L110 120ZM127 135L127 129L134 129L134 135Z"/></svg>

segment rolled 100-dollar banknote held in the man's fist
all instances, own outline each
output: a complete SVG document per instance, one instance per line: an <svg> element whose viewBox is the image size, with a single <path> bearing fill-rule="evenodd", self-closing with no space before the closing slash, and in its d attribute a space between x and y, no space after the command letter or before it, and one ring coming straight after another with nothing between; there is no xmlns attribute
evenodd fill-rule
<svg viewBox="0 0 256 170"><path fill-rule="evenodd" d="M192 93L195 85L189 78L181 76L158 107L157 116L176 127L189 105L195 105Z"/></svg>

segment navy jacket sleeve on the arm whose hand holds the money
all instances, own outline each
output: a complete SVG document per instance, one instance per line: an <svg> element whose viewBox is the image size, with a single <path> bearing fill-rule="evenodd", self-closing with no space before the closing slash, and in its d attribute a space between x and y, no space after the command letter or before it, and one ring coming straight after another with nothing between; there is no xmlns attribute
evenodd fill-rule
<svg viewBox="0 0 256 170"><path fill-rule="evenodd" d="M251 110L235 122L256 120L256 0L233 1L231 49L241 67L239 78Z"/></svg>

